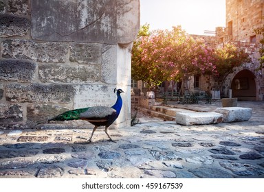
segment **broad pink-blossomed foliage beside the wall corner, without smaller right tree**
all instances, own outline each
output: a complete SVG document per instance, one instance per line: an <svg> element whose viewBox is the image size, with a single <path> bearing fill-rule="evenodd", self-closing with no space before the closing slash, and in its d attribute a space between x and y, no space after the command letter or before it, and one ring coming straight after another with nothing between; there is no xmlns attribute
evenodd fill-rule
<svg viewBox="0 0 264 192"><path fill-rule="evenodd" d="M132 77L154 87L165 80L182 81L190 75L214 71L212 49L194 40L180 26L148 32L140 29L132 49Z"/></svg>

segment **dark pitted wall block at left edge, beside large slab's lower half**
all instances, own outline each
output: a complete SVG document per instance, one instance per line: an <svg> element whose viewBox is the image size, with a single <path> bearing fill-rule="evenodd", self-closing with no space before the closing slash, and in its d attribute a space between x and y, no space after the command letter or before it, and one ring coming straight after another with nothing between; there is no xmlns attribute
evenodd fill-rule
<svg viewBox="0 0 264 192"><path fill-rule="evenodd" d="M0 14L0 37L25 36L30 30L30 20L21 16Z"/></svg>

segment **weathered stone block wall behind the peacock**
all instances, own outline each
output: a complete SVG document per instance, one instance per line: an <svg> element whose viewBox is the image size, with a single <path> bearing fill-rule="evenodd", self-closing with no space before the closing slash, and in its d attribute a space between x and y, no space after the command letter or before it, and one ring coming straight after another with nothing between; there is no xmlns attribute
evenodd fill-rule
<svg viewBox="0 0 264 192"><path fill-rule="evenodd" d="M0 127L36 128L65 110L124 105L129 125L131 47L139 0L0 0Z"/></svg>

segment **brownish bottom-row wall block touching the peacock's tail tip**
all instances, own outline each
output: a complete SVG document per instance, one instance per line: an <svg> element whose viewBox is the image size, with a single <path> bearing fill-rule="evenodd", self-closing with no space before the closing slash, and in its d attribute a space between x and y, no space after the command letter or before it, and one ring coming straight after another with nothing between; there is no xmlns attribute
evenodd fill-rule
<svg viewBox="0 0 264 192"><path fill-rule="evenodd" d="M27 107L28 123L45 122L47 121L47 119L55 117L56 115L65 112L66 110L69 110L69 108L63 108L61 106L51 104L30 104Z"/></svg>

